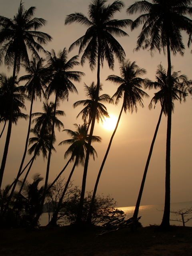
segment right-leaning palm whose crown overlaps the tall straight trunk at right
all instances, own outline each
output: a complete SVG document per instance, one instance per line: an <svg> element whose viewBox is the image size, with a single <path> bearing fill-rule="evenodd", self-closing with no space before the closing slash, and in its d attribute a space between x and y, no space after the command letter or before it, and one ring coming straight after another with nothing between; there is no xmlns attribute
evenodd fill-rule
<svg viewBox="0 0 192 256"><path fill-rule="evenodd" d="M174 100L180 100L180 103L181 103L182 98L183 98L183 100L185 101L187 93L185 92L185 90L184 91L180 90L180 88L183 87L183 83L180 81L186 82L186 79L187 78L184 75L179 76L179 72L172 73L172 76L171 76L171 80L172 80L172 112L174 111ZM156 82L149 81L145 85L145 87L148 89L153 89L153 88L160 89L158 92L155 93L155 96L152 98L152 100L149 104L149 109L152 109L153 103L155 106L158 102L160 102L161 112L160 112L160 116L159 116L158 123L156 126L156 130L154 133L154 137L153 137L153 140L152 140L152 143L150 146L148 158L146 161L146 166L145 166L145 170L144 170L144 174L143 174L143 178L142 178L140 191L138 194L138 199L136 202L133 218L138 217L138 211L139 211L139 206L140 206L140 202L141 202L141 198L142 198L142 192L144 189L144 183L146 180L146 174L148 171L148 166L150 163L150 158L152 155L152 151L153 151L153 147L154 147L154 143L155 143L155 139L157 136L157 132L158 132L158 128L160 125L162 114L164 113L165 116L167 116L167 114L168 114L168 77L167 77L165 69L163 68L163 66L161 64L158 65L158 69L156 72Z"/></svg>

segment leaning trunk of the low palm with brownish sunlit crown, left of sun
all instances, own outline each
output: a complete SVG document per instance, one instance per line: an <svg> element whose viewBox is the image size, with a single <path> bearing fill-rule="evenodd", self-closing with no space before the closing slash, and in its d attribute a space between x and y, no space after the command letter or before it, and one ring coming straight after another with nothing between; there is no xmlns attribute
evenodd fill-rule
<svg viewBox="0 0 192 256"><path fill-rule="evenodd" d="M51 219L51 221L49 222L48 225L57 226L57 216L58 216L59 210L60 210L60 208L61 208L61 204L62 204L64 195L65 195L65 193L66 193L66 191L67 191L67 188L68 188L69 182L70 182L70 180L71 180L72 174L73 174L73 172L74 172L74 170L75 170L76 164L77 164L77 158L76 158L76 160L75 160L75 162L74 162L73 168L72 168L72 170L71 170L71 172L70 172L70 175L69 175L69 178L68 178L68 180L67 180L67 182L66 182L66 185L65 185L65 188L64 188L64 190L63 190L62 196L61 196L61 198L60 198L60 200L59 200L59 202L58 202L56 211L54 212L54 214L53 214L53 216L52 216L52 219Z"/></svg>

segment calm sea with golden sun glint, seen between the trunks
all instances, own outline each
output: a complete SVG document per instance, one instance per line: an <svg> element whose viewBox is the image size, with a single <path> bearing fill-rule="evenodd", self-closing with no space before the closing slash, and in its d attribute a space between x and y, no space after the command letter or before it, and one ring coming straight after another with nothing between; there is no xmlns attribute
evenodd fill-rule
<svg viewBox="0 0 192 256"><path fill-rule="evenodd" d="M181 209L192 208L192 201L190 202L180 202L180 203L172 203L170 205L170 211L178 211ZM128 207L117 207L118 210L122 210L125 214L125 219L131 218L134 213L135 206L128 206ZM150 226L150 225L160 225L163 217L164 211L164 204L156 204L156 205L142 205L139 208L138 217L141 216L140 222L143 227ZM188 214L185 217L192 218L192 213ZM176 226L182 226L182 222L173 221L176 219L181 219L181 216L175 216L174 214L170 213L170 224ZM48 224L48 213L44 213L40 219L40 225L46 226ZM185 226L192 227L192 219L185 223Z"/></svg>

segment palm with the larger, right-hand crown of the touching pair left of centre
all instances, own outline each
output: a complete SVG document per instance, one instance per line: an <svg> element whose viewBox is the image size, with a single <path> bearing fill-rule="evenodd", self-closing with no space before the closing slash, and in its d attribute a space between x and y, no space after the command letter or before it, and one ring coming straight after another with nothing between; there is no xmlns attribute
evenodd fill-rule
<svg viewBox="0 0 192 256"><path fill-rule="evenodd" d="M71 82L74 80L75 82L80 82L81 76L84 75L83 72L80 71L72 71L74 66L78 65L78 56L74 56L68 60L68 54L66 48L63 51L58 52L56 55L55 51L52 50L51 52L47 52L47 68L48 68L48 87L46 90L46 94L48 98L51 94L55 94L55 102L54 102L54 114L56 113L56 106L59 100L68 100L69 92L76 92L76 87ZM45 190L42 196L42 208L44 204L44 199L46 196L46 189L48 184L48 176L49 176L49 169L50 169L50 159L51 159L51 149L52 143L54 138L54 126L55 122L53 119L52 128L51 128L51 140L50 140L50 149L48 154L48 161L47 161L47 169L46 169L46 178L45 178ZM37 214L36 220L40 217L41 212Z"/></svg>

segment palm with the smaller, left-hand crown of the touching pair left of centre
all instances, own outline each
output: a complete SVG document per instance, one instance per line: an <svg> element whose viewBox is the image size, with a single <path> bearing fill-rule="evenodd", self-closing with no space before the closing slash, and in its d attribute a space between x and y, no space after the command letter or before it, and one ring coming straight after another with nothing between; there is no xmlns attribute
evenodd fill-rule
<svg viewBox="0 0 192 256"><path fill-rule="evenodd" d="M30 60L29 65L23 64L22 66L25 68L28 74L25 76L21 76L18 80L19 82L28 80L27 83L25 84L24 89L28 93L28 98L31 101L28 132L26 137L23 158L20 164L20 168L18 170L18 177L20 176L20 172L22 170L26 153L27 153L28 140L29 140L30 128L31 128L33 102L37 97L40 98L41 100L41 95L44 94L43 88L46 88L46 84L44 83L45 68L43 68L43 62L44 60L42 58L33 57L32 60Z"/></svg>

